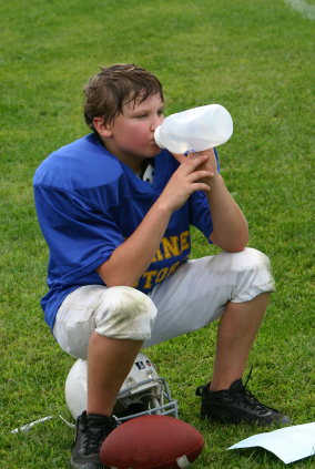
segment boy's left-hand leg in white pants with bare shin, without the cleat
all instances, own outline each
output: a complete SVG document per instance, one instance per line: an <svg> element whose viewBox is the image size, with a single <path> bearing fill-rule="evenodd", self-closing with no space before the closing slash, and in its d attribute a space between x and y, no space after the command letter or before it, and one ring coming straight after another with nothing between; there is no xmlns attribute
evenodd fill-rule
<svg viewBox="0 0 315 469"><path fill-rule="evenodd" d="M68 354L88 359L88 415L111 415L155 316L152 300L129 287L89 285L65 298L53 334Z"/></svg>

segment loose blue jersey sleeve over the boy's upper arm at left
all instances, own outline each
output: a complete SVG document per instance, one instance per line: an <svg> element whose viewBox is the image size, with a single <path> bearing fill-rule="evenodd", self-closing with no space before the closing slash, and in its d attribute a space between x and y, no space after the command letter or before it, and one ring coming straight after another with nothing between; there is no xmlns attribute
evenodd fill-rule
<svg viewBox="0 0 315 469"><path fill-rule="evenodd" d="M34 200L50 256L67 282L94 271L124 242L111 215L72 193L34 186Z"/></svg>

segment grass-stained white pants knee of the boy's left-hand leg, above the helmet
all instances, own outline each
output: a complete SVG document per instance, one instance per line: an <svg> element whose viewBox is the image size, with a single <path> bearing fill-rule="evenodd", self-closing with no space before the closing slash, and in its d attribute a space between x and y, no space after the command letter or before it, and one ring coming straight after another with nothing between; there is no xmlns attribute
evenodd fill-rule
<svg viewBox="0 0 315 469"><path fill-rule="evenodd" d="M111 287L103 294L105 313L95 317L100 335L118 339L146 340L156 317L156 307L143 293L126 286Z"/></svg>

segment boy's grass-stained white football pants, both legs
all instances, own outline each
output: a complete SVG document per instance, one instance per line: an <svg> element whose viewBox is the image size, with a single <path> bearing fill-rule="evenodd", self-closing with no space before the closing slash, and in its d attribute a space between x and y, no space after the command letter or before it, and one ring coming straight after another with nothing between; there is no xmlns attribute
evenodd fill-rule
<svg viewBox="0 0 315 469"><path fill-rule="evenodd" d="M90 337L144 340L143 348L197 330L217 319L227 302L274 292L271 263L260 251L221 252L187 261L148 295L125 286L87 285L58 310L53 335L68 354L88 358Z"/></svg>

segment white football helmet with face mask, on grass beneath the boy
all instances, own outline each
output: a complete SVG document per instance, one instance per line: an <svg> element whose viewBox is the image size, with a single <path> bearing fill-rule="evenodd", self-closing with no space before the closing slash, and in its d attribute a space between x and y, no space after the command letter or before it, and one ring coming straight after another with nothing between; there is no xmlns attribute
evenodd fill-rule
<svg viewBox="0 0 315 469"><path fill-rule="evenodd" d="M65 401L75 420L87 410L88 361L79 359L70 369ZM159 377L155 366L140 351L118 395L113 415L122 422L149 414L172 414L179 418L179 408L177 401L171 398L166 380Z"/></svg>

